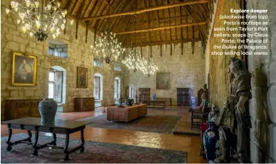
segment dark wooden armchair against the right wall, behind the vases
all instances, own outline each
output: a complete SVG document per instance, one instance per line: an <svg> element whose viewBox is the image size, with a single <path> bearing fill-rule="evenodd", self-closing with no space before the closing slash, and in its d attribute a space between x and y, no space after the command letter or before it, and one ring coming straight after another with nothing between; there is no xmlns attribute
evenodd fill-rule
<svg viewBox="0 0 276 164"><path fill-rule="evenodd" d="M190 109L190 129L192 130L194 127L200 129L200 124L208 119L208 107L205 107L206 101L203 100L203 107L197 109ZM196 120L196 121L195 121Z"/></svg>

